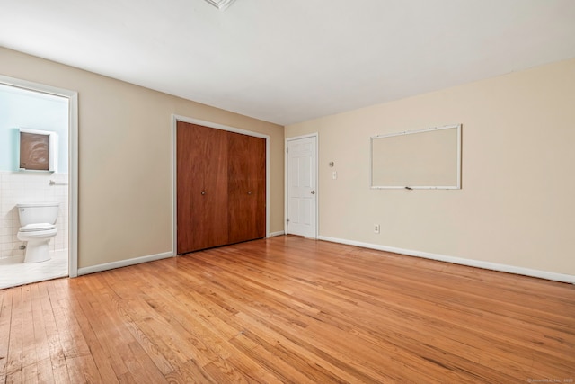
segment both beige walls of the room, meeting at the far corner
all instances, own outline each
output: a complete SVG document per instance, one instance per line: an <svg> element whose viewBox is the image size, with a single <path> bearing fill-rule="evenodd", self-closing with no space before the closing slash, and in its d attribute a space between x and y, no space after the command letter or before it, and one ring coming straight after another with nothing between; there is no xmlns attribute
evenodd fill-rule
<svg viewBox="0 0 575 384"><path fill-rule="evenodd" d="M79 94L80 268L172 250L172 113L270 135L270 231L283 230L281 126L9 49L0 74ZM323 237L575 275L574 104L568 60L305 121L286 137L319 132ZM453 123L462 190L369 189L370 136Z"/></svg>

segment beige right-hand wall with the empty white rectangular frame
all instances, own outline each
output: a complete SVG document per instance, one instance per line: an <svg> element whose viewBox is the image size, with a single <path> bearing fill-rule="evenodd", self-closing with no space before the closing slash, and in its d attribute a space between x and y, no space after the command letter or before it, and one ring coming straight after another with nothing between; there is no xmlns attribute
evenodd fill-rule
<svg viewBox="0 0 575 384"><path fill-rule="evenodd" d="M370 136L456 123L463 189L369 188ZM575 275L575 59L286 127L312 132L321 236Z"/></svg>

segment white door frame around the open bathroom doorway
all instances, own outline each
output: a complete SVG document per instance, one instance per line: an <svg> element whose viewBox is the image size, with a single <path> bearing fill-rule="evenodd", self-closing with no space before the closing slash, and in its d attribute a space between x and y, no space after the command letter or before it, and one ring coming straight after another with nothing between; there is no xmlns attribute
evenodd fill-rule
<svg viewBox="0 0 575 384"><path fill-rule="evenodd" d="M68 276L78 276L78 93L0 75L0 83L68 99Z"/></svg>

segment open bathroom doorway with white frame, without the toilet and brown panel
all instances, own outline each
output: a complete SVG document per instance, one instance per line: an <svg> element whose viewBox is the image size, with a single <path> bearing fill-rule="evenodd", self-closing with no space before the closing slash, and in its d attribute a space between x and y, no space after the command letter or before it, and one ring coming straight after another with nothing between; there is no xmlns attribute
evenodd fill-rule
<svg viewBox="0 0 575 384"><path fill-rule="evenodd" d="M57 138L46 171L24 170L20 134L26 129ZM51 166L51 165L50 165ZM23 263L17 204L57 202L57 234L49 260ZM77 276L77 94L0 76L0 289Z"/></svg>

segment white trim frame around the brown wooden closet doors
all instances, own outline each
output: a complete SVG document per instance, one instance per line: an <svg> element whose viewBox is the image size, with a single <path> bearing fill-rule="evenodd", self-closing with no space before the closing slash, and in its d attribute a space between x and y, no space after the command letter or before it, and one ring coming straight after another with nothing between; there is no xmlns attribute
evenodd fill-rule
<svg viewBox="0 0 575 384"><path fill-rule="evenodd" d="M178 219L178 167L177 167L177 126L178 121L189 122L191 124L203 125L204 127L222 129L229 132L241 133L247 136L253 136L255 138L264 138L266 140L266 237L270 237L270 136L264 135L259 132L252 132L251 130L240 129L236 127L230 127L223 124L218 124L212 121L203 121L187 116L181 116L177 114L172 115L172 244L173 244L173 254L177 255L178 250L178 231L177 231L177 219Z"/></svg>

